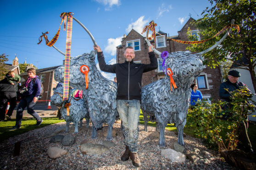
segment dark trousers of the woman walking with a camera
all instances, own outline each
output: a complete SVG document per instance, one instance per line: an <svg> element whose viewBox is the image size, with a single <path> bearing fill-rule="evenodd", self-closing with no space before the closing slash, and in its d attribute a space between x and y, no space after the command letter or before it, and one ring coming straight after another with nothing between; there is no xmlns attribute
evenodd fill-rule
<svg viewBox="0 0 256 170"><path fill-rule="evenodd" d="M34 111L34 106L36 102L33 102L34 95L28 95L24 96L17 108L17 113L16 113L16 124L21 125L22 122L22 116L23 116L23 110L27 106L27 111L29 114L31 114L37 121L41 120L37 112Z"/></svg>

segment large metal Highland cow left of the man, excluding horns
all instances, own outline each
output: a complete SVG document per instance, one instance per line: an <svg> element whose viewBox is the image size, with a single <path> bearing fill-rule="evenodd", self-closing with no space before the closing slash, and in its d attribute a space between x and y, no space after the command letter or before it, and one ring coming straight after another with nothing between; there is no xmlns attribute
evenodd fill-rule
<svg viewBox="0 0 256 170"><path fill-rule="evenodd" d="M81 65L89 67L88 88L86 89L85 76L80 71ZM63 82L64 66L60 66L54 73L55 80ZM117 117L117 84L104 78L95 64L95 52L84 53L71 59L70 63L70 86L83 90L83 99L88 107L89 117L92 121L92 136L97 137L97 129L103 123L108 124L106 140L112 140L112 128Z"/></svg>

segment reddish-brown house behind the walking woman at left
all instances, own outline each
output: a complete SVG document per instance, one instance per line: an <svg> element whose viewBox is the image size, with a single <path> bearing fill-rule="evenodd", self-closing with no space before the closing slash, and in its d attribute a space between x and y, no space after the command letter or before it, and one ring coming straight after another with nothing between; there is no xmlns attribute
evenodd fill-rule
<svg viewBox="0 0 256 170"><path fill-rule="evenodd" d="M39 79L41 80L43 86L44 86L44 93L43 96L39 99L39 102L49 102L50 97L53 95L53 88L56 87L58 82L54 80L54 71L58 68L59 66L54 66L54 67L48 67L44 69L37 69L36 70L36 75L39 76ZM27 68L28 69L28 68ZM27 70L26 69L26 70ZM20 76L27 80L28 79L28 74L27 72L20 74ZM23 82L22 84L24 84Z"/></svg>

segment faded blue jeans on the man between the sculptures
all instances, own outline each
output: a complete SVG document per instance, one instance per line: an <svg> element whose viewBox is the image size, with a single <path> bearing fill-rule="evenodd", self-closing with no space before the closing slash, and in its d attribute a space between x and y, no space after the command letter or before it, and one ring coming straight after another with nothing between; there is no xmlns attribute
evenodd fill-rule
<svg viewBox="0 0 256 170"><path fill-rule="evenodd" d="M139 138L139 100L117 100L117 112L122 120L122 132L124 135L124 144L131 152L138 151Z"/></svg>

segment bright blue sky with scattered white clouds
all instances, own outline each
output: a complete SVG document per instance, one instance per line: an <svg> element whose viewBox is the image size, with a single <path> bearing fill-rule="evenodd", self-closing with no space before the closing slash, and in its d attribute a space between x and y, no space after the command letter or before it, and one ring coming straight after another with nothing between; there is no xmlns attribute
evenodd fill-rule
<svg viewBox="0 0 256 170"><path fill-rule="evenodd" d="M56 34L62 12L73 12L95 37L103 50L106 63L116 63L116 46L133 28L142 32L154 20L156 31L178 35L189 19L201 17L210 7L208 0L0 0L0 53L5 53L11 64L17 55L19 63L34 64L39 69L61 65L65 56L54 48L41 44L42 32L49 32L50 40ZM66 33L61 26L56 48L65 53ZM71 56L89 53L93 43L89 35L73 20ZM97 60L96 60L97 63ZM102 73L113 80L115 75Z"/></svg>

